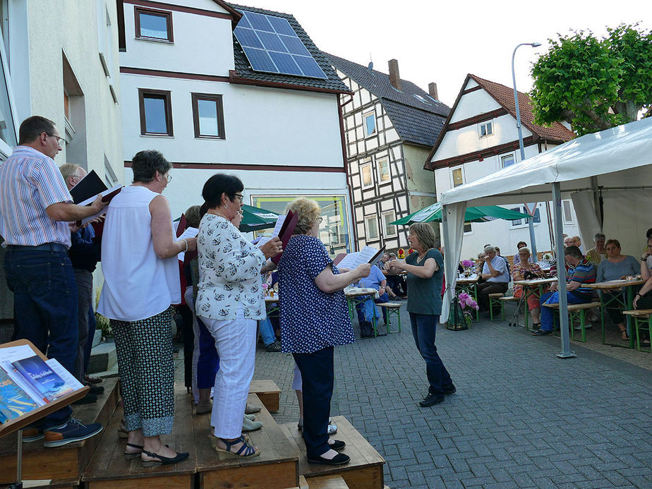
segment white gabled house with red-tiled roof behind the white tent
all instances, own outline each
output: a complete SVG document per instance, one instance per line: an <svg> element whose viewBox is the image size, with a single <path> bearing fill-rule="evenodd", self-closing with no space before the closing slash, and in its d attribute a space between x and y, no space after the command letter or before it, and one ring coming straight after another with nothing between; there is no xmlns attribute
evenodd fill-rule
<svg viewBox="0 0 652 489"><path fill-rule="evenodd" d="M442 193L494 171L521 161L519 135L514 109L514 92L499 83L474 75L466 76L445 127L425 163L435 173L437 198ZM532 121L529 97L519 92L525 158L565 143L574 137L569 128L555 123L551 128ZM579 234L571 200L562 201L564 232ZM505 205L509 209L534 215L534 233L538 253L552 249L550 203ZM517 253L517 243L529 246L526 219L466 223L461 256L476 258L485 244L499 246L503 256ZM584 243L591 248L592 243Z"/></svg>

